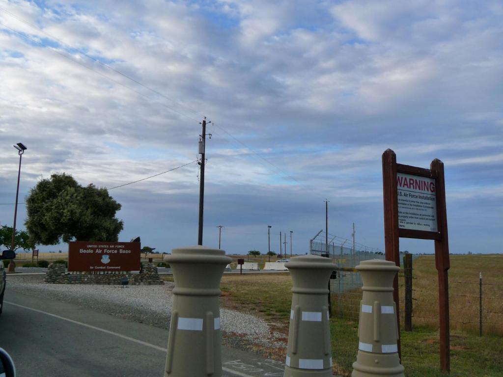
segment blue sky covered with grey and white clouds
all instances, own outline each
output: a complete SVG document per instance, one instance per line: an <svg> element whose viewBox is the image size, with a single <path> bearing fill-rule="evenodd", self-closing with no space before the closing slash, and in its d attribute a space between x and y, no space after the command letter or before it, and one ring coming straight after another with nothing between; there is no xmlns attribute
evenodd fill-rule
<svg viewBox="0 0 503 377"><path fill-rule="evenodd" d="M451 252L499 252L502 104L497 0L0 0L0 221L12 225L13 144L28 147L23 202L53 172L113 187L194 161L206 116L207 246L221 224L228 253L265 252L272 225L273 250L293 231L305 253L327 198L329 233L351 238L354 222L357 242L384 249L391 148L445 163ZM110 194L120 240L197 243L197 164Z"/></svg>

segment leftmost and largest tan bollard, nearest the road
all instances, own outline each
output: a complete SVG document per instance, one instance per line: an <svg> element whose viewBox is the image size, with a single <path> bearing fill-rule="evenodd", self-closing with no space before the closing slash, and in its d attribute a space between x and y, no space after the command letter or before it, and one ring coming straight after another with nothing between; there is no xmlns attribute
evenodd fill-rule
<svg viewBox="0 0 503 377"><path fill-rule="evenodd" d="M173 249L173 312L164 377L220 377L220 279L232 259L204 246Z"/></svg>

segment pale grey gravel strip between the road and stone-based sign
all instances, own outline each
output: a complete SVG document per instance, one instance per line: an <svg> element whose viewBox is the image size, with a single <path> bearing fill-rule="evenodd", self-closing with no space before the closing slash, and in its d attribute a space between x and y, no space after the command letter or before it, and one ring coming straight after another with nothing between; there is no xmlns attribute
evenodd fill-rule
<svg viewBox="0 0 503 377"><path fill-rule="evenodd" d="M70 302L135 322L167 329L173 308L173 282L163 286L45 284L44 275L8 275L7 289ZM223 342L241 349L286 347L266 321L231 309L220 309Z"/></svg>

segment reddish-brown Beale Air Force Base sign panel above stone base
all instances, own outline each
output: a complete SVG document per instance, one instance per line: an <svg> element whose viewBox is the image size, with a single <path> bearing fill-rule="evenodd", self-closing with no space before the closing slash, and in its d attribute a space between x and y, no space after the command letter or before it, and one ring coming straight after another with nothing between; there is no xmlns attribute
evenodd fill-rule
<svg viewBox="0 0 503 377"><path fill-rule="evenodd" d="M138 271L139 242L74 241L68 244L68 271Z"/></svg>

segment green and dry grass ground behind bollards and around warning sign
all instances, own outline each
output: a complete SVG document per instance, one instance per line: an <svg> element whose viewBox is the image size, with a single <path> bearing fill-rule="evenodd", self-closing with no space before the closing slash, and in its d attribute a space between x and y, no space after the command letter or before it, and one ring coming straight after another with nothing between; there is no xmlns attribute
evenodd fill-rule
<svg viewBox="0 0 503 377"><path fill-rule="evenodd" d="M501 259L485 255L451 256L450 280L464 281L464 284L456 283L459 287L475 286L466 283L476 282L478 284L478 272L482 270L484 276L487 276L484 278L485 281L499 284L501 276L497 274L497 271L503 267L500 263L503 263L503 256ZM422 291L414 292L413 297L417 299L414 301L414 314L435 318L435 315L438 315L438 304L433 257L425 256L414 260L413 275L413 288ZM477 308L473 309L473 302L466 300L471 298L465 296L474 295L474 291L461 291L461 288L456 288L456 284L452 282L450 285L452 292L451 316L453 319L471 316L472 311L475 310L478 321L478 285L475 286ZM488 287L487 296L490 294L501 297L503 287ZM222 306L254 313L268 319L275 324L275 330L283 332L286 337L292 297L290 289L291 278L289 274L224 275L221 283ZM423 295L420 296L419 293ZM458 298L459 294L464 296ZM334 301L335 297L332 302ZM489 304L487 305L488 308L492 308ZM497 307L493 309L499 310ZM491 321L501 322L502 317L489 318ZM486 327L484 336L478 337L478 332L475 333L472 325L453 324L451 326L453 330L451 330L450 375L460 377L503 376L503 337L497 335L497 328L491 327ZM358 352L358 322L332 317L330 327L334 372L349 376L352 363L356 360ZM439 335L435 320L420 322L416 317L413 319L413 331L404 332L402 330L401 334L402 363L405 366L407 376L447 375L443 374L439 368ZM285 356L284 349L265 351L280 360L283 360Z"/></svg>

